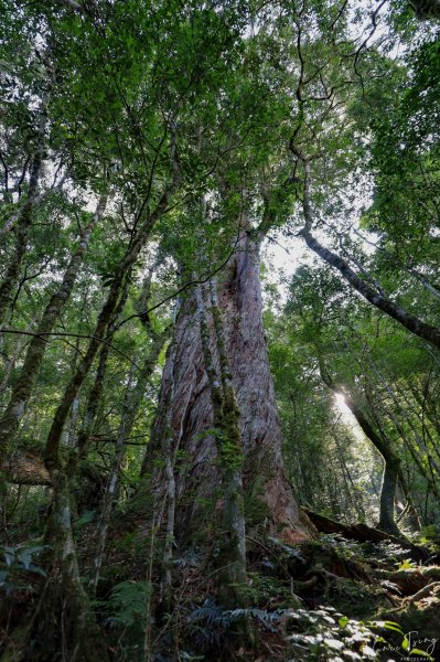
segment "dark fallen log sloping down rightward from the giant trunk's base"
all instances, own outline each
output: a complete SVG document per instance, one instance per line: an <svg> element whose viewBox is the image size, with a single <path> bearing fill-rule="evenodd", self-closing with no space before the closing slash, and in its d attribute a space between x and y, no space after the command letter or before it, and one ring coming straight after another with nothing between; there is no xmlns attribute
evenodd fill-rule
<svg viewBox="0 0 440 662"><path fill-rule="evenodd" d="M429 558L429 552L427 549L415 545L405 537L397 537L385 531L380 531L379 528L367 526L366 524L342 524L342 522L336 522L335 520L331 520L325 515L320 515L309 509L303 508L302 510L320 533L339 533L351 541L358 541L359 543L390 542L399 545L404 549L408 549L414 560L420 562Z"/></svg>

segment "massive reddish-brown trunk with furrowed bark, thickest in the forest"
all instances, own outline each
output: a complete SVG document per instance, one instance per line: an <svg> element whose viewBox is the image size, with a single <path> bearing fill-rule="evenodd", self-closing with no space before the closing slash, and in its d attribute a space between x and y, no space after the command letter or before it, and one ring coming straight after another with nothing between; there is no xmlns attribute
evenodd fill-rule
<svg viewBox="0 0 440 662"><path fill-rule="evenodd" d="M299 510L287 481L282 460L280 421L275 403L272 377L261 321L259 246L243 231L237 250L229 260L219 287L226 349L233 384L240 409L240 431L245 453L244 489L247 525L264 522L272 533L298 542L314 535L314 527ZM172 365L174 364L174 365ZM168 355L163 372L158 416L142 467L143 485L149 493L151 472L155 503L163 503L163 469L154 469L167 418L168 392L174 382L171 424L174 449L183 457L176 467L176 537L182 540L200 525L202 504L213 499L221 482L217 468L210 384L204 369L202 344L193 296L183 301L175 329L174 360ZM150 483L151 484L151 483ZM251 511L251 513L250 513ZM205 514L208 519L210 515Z"/></svg>

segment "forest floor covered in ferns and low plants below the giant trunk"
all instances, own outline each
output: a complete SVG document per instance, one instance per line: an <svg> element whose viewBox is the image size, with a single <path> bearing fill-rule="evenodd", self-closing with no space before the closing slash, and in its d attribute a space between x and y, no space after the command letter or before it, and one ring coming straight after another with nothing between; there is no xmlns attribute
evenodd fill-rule
<svg viewBox="0 0 440 662"><path fill-rule="evenodd" d="M77 541L85 577L92 568L89 532L89 523L81 522ZM425 546L423 562L411 560L411 553L395 542L361 543L341 534L321 534L298 545L255 534L247 543L247 609L218 606L214 544L187 548L174 558L172 602L165 607L158 566L146 567L150 542L139 530L127 533L115 526L94 602L110 659L440 660L439 547L432 542ZM2 600L3 642L10 643L37 601L37 560L28 566L15 574ZM244 620L250 623L251 640L238 636ZM0 660L14 658L2 654Z"/></svg>

